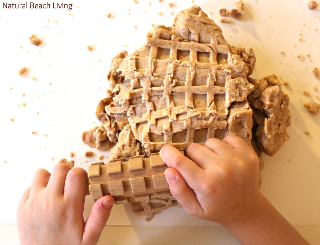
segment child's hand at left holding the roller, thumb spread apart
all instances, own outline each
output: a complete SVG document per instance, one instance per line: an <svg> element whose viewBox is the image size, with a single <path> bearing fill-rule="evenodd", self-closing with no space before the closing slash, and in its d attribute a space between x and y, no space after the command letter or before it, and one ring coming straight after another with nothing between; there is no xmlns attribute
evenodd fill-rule
<svg viewBox="0 0 320 245"><path fill-rule="evenodd" d="M58 163L52 174L36 171L17 211L21 244L96 244L106 225L114 198L97 200L83 218L87 172Z"/></svg>

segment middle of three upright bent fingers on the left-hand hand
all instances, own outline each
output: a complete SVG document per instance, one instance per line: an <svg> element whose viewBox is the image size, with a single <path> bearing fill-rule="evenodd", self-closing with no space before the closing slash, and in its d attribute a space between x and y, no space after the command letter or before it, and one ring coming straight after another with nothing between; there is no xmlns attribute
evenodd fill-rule
<svg viewBox="0 0 320 245"><path fill-rule="evenodd" d="M65 163L59 162L56 164L53 168L46 190L55 195L63 194L64 183L66 182L69 170L70 167Z"/></svg>

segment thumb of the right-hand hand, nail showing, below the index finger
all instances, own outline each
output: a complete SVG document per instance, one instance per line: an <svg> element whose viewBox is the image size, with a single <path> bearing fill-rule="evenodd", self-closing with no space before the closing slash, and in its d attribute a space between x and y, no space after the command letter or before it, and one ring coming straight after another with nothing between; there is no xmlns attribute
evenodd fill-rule
<svg viewBox="0 0 320 245"><path fill-rule="evenodd" d="M164 170L171 194L177 199L187 213L199 216L204 210L196 198L194 191L188 186L180 173L172 168Z"/></svg>

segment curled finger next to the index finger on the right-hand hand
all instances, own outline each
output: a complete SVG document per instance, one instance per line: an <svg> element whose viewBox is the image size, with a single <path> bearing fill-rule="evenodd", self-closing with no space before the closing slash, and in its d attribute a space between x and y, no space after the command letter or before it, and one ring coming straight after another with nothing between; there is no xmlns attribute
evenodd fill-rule
<svg viewBox="0 0 320 245"><path fill-rule="evenodd" d="M208 147L192 143L187 149L187 157L201 168L209 169L212 167L212 160L219 158L219 155Z"/></svg>

